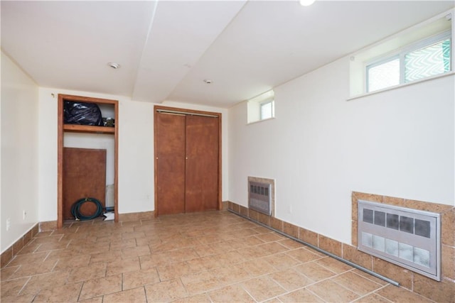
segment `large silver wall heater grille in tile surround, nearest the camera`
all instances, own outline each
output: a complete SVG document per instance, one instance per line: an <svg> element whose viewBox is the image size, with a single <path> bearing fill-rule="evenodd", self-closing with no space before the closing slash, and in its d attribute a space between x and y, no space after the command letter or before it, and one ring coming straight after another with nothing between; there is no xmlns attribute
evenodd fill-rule
<svg viewBox="0 0 455 303"><path fill-rule="evenodd" d="M358 249L441 280L440 216L358 200Z"/></svg>

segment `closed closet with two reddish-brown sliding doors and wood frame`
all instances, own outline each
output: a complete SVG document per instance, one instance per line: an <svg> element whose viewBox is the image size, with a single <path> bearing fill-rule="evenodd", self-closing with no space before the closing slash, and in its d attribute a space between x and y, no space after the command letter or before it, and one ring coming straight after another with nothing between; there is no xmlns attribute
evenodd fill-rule
<svg viewBox="0 0 455 303"><path fill-rule="evenodd" d="M221 114L154 108L155 215L220 209Z"/></svg>

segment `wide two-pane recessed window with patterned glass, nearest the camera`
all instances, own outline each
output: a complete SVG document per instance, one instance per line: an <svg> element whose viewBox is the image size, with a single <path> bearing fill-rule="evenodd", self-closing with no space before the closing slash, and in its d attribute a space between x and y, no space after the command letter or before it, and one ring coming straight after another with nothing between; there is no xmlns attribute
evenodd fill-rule
<svg viewBox="0 0 455 303"><path fill-rule="evenodd" d="M454 13L440 13L352 54L349 99L453 72Z"/></svg>

